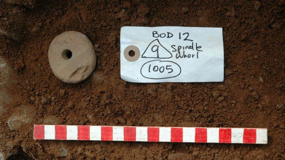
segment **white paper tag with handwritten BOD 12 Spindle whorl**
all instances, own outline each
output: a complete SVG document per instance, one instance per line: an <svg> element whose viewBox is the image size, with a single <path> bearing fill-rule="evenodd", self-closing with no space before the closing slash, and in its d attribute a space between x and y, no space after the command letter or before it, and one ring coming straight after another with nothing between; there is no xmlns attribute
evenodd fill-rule
<svg viewBox="0 0 285 160"><path fill-rule="evenodd" d="M222 28L121 27L121 78L128 82L222 82Z"/></svg>

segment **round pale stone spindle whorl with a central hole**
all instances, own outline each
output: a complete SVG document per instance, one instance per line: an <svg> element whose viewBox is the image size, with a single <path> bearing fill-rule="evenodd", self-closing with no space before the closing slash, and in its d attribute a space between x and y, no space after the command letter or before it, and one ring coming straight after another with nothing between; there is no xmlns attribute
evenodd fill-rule
<svg viewBox="0 0 285 160"><path fill-rule="evenodd" d="M48 48L53 74L66 83L85 80L96 66L96 55L87 36L67 31L56 36Z"/></svg>

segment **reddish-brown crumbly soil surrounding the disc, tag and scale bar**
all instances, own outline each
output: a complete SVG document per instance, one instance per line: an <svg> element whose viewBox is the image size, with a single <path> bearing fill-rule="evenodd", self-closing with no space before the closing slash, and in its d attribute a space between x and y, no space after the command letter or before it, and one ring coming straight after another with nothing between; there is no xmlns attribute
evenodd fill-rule
<svg viewBox="0 0 285 160"><path fill-rule="evenodd" d="M32 155L37 159L285 159L285 2L260 1L258 10L255 3L46 0L7 4L0 0L0 26L8 32L21 31L17 35L22 37L21 43L13 37L0 38L0 56L15 72L6 86L13 101L0 116L0 149L12 146L17 153L10 158L16 159L32 159ZM15 10L20 13L13 15ZM223 27L224 82L121 80L122 26ZM48 64L49 44L69 30L85 34L96 47L94 74L79 84L60 81ZM21 106L34 109L32 123L10 131L7 119ZM33 140L34 124L55 123L256 127L268 129L269 141L243 145ZM67 157L61 157L60 148L66 149Z"/></svg>

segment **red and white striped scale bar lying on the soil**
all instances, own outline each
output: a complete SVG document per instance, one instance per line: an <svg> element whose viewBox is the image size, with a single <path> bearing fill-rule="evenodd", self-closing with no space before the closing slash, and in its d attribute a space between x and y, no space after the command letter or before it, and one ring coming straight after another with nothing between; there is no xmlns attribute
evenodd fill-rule
<svg viewBox="0 0 285 160"><path fill-rule="evenodd" d="M34 125L34 139L267 144L267 129Z"/></svg>

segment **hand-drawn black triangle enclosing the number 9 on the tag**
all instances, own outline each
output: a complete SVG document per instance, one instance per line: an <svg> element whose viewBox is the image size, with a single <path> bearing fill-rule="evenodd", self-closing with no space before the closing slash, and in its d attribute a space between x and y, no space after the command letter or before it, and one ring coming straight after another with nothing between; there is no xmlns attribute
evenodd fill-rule
<svg viewBox="0 0 285 160"><path fill-rule="evenodd" d="M172 54L169 52L158 39L153 40L145 49L142 58L171 58Z"/></svg>

